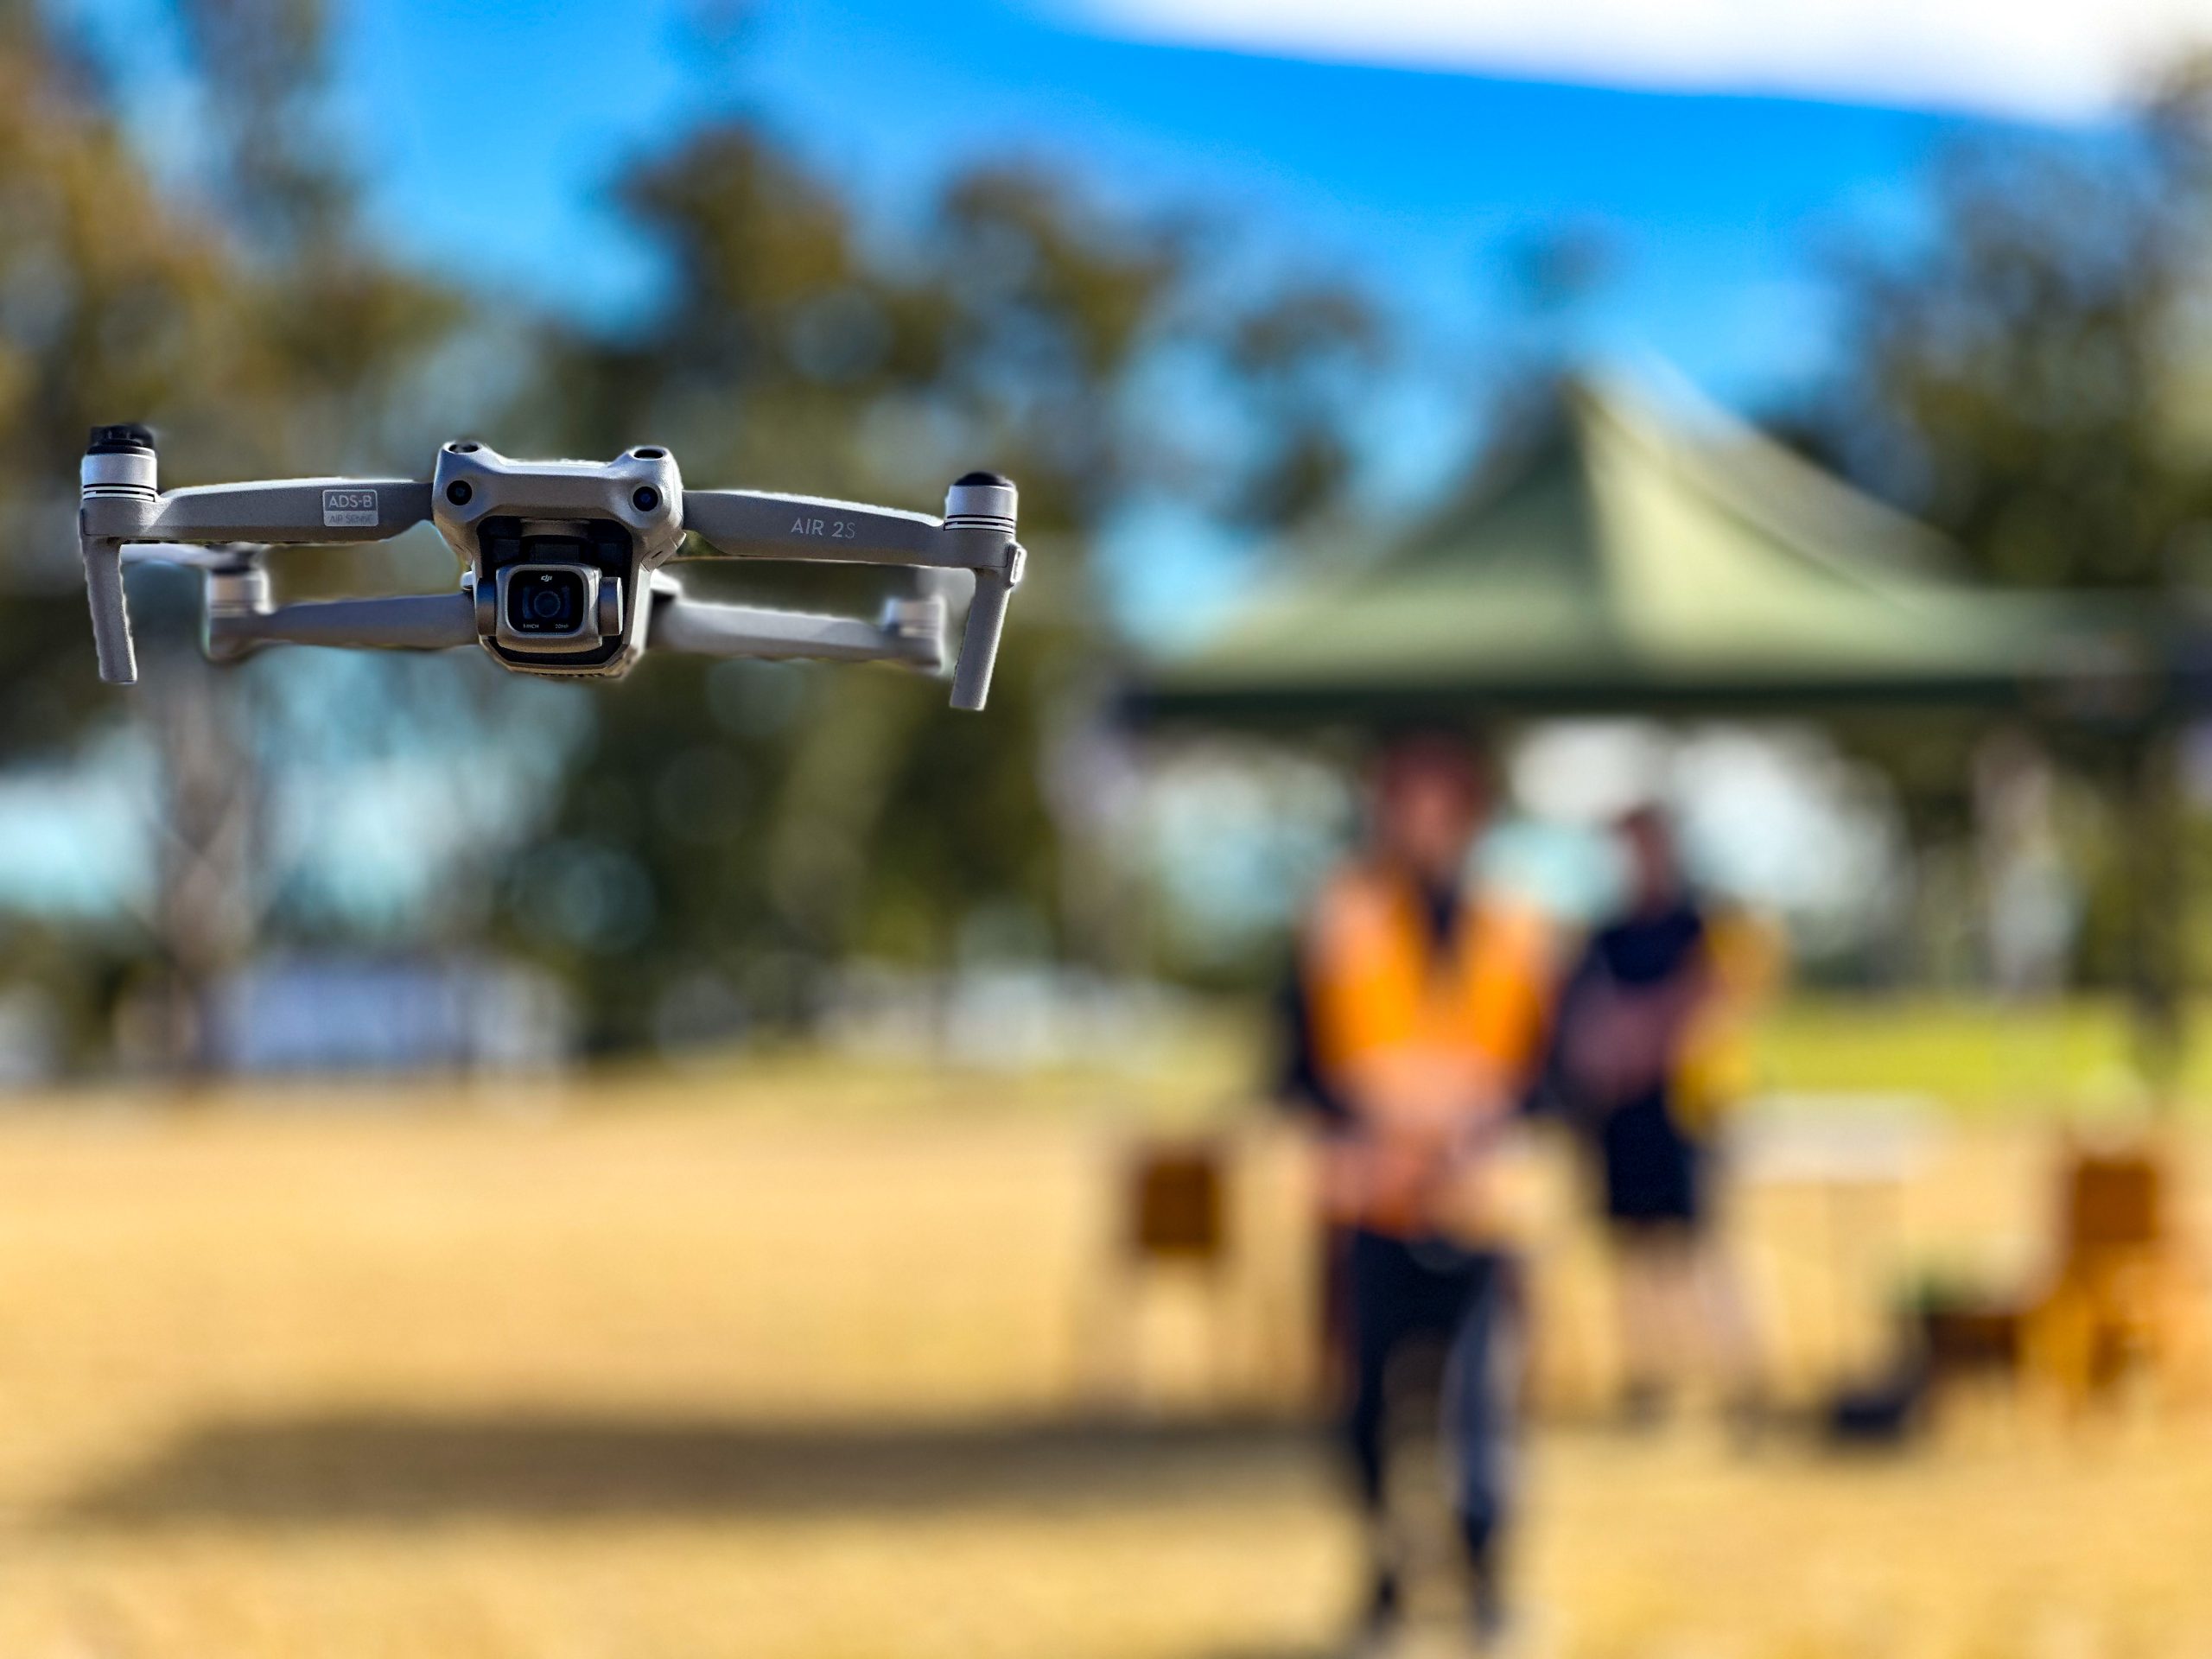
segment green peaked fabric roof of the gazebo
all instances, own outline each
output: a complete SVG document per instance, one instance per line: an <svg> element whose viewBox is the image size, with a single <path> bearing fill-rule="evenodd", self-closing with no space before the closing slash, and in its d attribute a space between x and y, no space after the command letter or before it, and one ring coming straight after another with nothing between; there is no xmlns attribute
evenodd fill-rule
<svg viewBox="0 0 2212 1659"><path fill-rule="evenodd" d="M2002 703L2079 595L1949 575L1929 529L1708 407L1571 385L1517 465L1135 675L1139 719Z"/></svg>

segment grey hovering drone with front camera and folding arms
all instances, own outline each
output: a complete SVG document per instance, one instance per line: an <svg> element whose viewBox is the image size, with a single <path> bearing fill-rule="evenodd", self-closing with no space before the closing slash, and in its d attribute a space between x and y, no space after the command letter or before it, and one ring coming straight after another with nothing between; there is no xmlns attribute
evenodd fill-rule
<svg viewBox="0 0 2212 1659"><path fill-rule="evenodd" d="M619 679L646 648L699 657L816 657L947 670L945 573L971 571L953 708L978 710L1006 602L1022 582L1015 489L967 473L945 518L889 507L684 489L675 456L639 445L608 462L509 460L467 438L438 449L429 482L290 478L161 491L146 427L93 427L84 451L77 551L100 677L137 681L124 564L206 575L201 646L232 661L268 644L451 650L482 646L518 675ZM458 593L276 604L276 546L387 542L436 524L460 557ZM690 538L690 540L686 540ZM883 613L830 617L690 597L661 568L686 557L805 560L911 573Z"/></svg>

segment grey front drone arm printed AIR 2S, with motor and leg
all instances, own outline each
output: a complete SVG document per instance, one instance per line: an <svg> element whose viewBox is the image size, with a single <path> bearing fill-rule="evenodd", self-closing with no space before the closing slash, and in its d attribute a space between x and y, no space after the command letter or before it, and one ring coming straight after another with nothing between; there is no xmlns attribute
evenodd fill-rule
<svg viewBox="0 0 2212 1659"><path fill-rule="evenodd" d="M945 495L945 518L885 507L774 495L752 489L684 491L684 526L726 557L905 564L975 573L975 602L960 635L953 708L991 695L1006 602L1022 582L1013 540L1015 491L993 473L969 473Z"/></svg>

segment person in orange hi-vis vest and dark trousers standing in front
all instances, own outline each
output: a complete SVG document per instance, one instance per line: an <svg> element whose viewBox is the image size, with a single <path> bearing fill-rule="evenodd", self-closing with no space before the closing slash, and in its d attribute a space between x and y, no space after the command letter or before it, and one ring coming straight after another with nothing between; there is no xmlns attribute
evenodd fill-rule
<svg viewBox="0 0 2212 1659"><path fill-rule="evenodd" d="M1316 896L1298 953L1305 1064L1325 1099L1323 1203L1338 1239L1345 1429L1371 1540L1367 1630L1398 1624L1385 1400L1402 1356L1444 1354L1444 1438L1478 1639L1504 1624L1517 1310L1504 1141L1551 1018L1535 916L1478 896L1489 816L1473 745L1387 743L1363 852Z"/></svg>

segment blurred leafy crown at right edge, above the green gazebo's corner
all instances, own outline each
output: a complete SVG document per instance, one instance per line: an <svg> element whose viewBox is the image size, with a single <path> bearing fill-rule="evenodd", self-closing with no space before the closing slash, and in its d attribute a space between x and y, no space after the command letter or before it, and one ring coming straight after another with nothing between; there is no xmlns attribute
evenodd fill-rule
<svg viewBox="0 0 2212 1659"><path fill-rule="evenodd" d="M2000 582L2172 582L2212 511L2208 181L2201 69L2126 135L1953 153L1931 232L1847 265L1843 453Z"/></svg>

